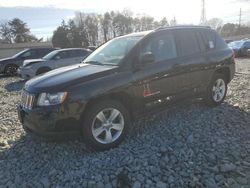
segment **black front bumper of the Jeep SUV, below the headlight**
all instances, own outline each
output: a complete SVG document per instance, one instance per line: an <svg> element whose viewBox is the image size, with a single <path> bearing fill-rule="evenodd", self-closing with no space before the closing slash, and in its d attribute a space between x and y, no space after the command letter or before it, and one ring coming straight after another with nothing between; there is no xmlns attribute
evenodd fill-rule
<svg viewBox="0 0 250 188"><path fill-rule="evenodd" d="M80 135L79 122L72 118L61 116L56 106L27 110L17 107L18 118L26 132L47 139L68 139Z"/></svg>

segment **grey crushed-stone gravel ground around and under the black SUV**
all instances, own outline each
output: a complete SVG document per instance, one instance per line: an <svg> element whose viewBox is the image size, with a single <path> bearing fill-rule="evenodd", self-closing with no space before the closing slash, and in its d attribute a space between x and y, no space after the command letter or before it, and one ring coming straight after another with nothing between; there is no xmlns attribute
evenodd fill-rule
<svg viewBox="0 0 250 188"><path fill-rule="evenodd" d="M250 187L250 59L221 106L183 103L134 122L105 152L45 142L17 119L23 82L0 78L0 187Z"/></svg>

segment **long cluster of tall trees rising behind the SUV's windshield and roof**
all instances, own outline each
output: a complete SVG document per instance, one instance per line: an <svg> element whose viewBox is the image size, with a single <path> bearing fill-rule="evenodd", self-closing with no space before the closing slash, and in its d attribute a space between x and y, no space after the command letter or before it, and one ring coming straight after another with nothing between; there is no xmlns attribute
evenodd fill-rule
<svg viewBox="0 0 250 188"><path fill-rule="evenodd" d="M52 43L56 47L98 46L124 34L176 24L175 18L168 22L166 18L157 21L146 15L133 17L129 10L104 14L78 12L67 23L62 21L54 31Z"/></svg>

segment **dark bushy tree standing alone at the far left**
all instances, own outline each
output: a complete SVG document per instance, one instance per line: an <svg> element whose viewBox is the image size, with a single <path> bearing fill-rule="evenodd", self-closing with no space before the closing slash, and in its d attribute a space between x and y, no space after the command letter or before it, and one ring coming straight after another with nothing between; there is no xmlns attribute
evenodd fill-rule
<svg viewBox="0 0 250 188"><path fill-rule="evenodd" d="M27 24L19 18L0 24L0 39L9 44L39 41L30 33Z"/></svg>

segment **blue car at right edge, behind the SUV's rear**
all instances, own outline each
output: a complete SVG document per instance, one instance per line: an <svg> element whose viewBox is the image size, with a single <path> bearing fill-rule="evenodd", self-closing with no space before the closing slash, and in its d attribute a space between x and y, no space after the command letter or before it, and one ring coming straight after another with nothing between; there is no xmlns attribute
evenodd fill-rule
<svg viewBox="0 0 250 188"><path fill-rule="evenodd" d="M228 46L234 51L235 57L247 56L247 50L250 49L250 40L230 42Z"/></svg>

